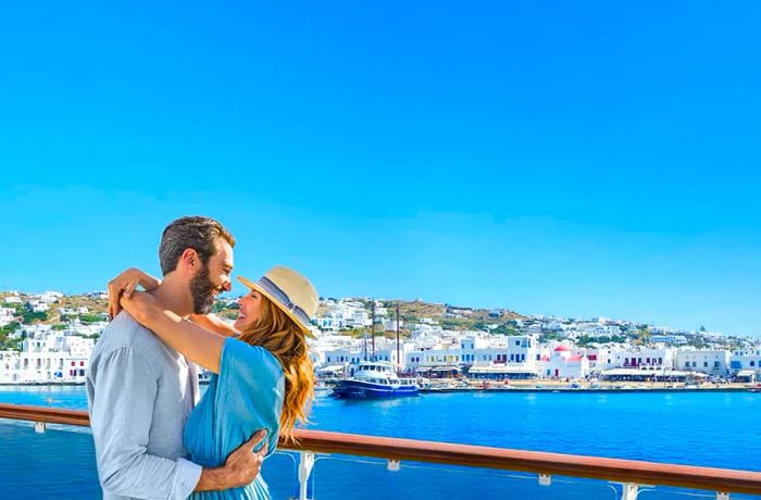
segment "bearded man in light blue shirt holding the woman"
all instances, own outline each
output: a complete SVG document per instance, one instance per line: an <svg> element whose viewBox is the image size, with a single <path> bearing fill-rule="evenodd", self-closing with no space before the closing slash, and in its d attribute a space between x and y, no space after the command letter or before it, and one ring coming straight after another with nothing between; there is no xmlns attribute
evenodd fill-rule
<svg viewBox="0 0 761 500"><path fill-rule="evenodd" d="M174 221L159 248L164 278L151 293L180 316L209 313L215 297L230 288L234 246L235 238L217 221ZM254 453L253 448L263 432L234 451L223 467L185 460L183 430L198 399L196 366L126 312L117 314L98 340L87 374L104 499L183 499L255 478L266 449Z"/></svg>

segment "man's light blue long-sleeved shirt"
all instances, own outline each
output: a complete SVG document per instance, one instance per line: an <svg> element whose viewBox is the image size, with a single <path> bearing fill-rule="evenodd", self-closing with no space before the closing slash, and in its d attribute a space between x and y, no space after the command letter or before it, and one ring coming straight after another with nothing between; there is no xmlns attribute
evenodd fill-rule
<svg viewBox="0 0 761 500"><path fill-rule="evenodd" d="M185 460L183 430L198 401L194 364L126 312L90 358L87 403L105 500L184 499L201 466Z"/></svg>

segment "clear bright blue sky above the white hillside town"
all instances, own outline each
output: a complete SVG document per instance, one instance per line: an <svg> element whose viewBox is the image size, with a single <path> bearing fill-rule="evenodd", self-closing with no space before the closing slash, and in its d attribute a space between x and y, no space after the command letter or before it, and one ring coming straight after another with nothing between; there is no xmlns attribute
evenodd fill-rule
<svg viewBox="0 0 761 500"><path fill-rule="evenodd" d="M0 8L0 289L207 214L324 296L761 334L760 3L158 3Z"/></svg>

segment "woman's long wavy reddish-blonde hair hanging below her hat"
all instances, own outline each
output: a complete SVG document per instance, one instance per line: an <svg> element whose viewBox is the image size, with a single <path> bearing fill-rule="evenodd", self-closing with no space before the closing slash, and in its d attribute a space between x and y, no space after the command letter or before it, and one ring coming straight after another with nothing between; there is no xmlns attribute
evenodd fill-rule
<svg viewBox="0 0 761 500"><path fill-rule="evenodd" d="M266 349L280 362L285 374L280 434L292 441L294 427L297 422L307 423L314 398L314 366L301 328L270 299L261 297L259 320L238 338Z"/></svg>

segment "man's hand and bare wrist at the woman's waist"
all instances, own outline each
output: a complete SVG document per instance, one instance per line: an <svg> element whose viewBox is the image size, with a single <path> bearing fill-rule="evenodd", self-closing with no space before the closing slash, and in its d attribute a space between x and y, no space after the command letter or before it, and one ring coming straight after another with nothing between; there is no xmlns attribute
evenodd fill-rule
<svg viewBox="0 0 761 500"><path fill-rule="evenodd" d="M227 457L224 467L204 468L198 485L196 485L196 491L222 490L250 485L262 470L269 442L265 442L259 451L254 452L253 449L265 437L265 429L258 430L251 436L251 439L240 445Z"/></svg>

